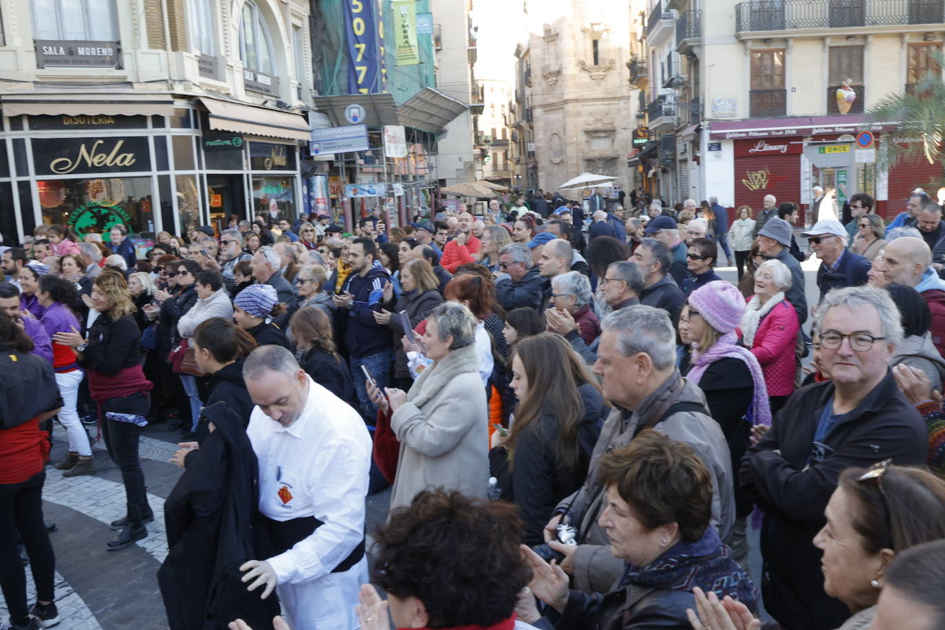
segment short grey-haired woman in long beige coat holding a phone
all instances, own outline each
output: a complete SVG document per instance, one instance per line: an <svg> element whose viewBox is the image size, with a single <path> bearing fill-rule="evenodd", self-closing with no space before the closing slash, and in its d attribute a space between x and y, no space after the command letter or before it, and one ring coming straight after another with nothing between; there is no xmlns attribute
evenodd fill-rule
<svg viewBox="0 0 945 630"><path fill-rule="evenodd" d="M387 387L387 398L368 383L371 400L393 413L390 426L401 443L391 509L409 505L428 487L485 497L489 482L486 390L475 351L476 320L456 302L440 304L427 318L423 346L433 365L410 391Z"/></svg>

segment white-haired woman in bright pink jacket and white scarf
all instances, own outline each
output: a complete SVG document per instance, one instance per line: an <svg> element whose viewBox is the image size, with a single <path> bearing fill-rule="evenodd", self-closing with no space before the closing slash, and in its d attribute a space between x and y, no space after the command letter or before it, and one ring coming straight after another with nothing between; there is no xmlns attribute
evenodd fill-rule
<svg viewBox="0 0 945 630"><path fill-rule="evenodd" d="M755 271L754 295L742 315L742 344L762 365L771 415L794 392L794 346L798 313L784 297L791 287L791 270L781 261L765 261Z"/></svg>

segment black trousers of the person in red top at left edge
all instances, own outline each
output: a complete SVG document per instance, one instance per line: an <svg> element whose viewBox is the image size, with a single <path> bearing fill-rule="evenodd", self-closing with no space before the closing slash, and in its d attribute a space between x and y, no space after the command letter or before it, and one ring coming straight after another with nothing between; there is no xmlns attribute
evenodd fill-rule
<svg viewBox="0 0 945 630"><path fill-rule="evenodd" d="M19 538L23 538L36 585L36 598L52 602L56 557L43 523L43 482L40 470L20 484L0 484L0 587L9 615L22 620L29 615L26 603L26 571L20 562ZM18 534L19 533L19 534Z"/></svg>

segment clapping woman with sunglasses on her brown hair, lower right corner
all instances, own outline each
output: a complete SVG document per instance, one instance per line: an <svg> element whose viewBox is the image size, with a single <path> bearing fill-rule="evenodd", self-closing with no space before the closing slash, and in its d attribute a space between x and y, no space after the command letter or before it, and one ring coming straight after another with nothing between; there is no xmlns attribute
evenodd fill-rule
<svg viewBox="0 0 945 630"><path fill-rule="evenodd" d="M890 466L888 460L847 468L824 516L827 524L814 537L823 552L824 590L850 608L852 616L839 630L862 630L876 612L889 563L910 547L945 538L945 481L922 468ZM722 604L694 592L693 628L761 627L744 604Z"/></svg>

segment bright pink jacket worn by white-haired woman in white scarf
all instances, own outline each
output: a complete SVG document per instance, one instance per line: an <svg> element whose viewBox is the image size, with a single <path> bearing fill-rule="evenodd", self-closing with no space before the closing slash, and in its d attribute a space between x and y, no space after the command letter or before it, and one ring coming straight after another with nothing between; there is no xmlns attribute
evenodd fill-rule
<svg viewBox="0 0 945 630"><path fill-rule="evenodd" d="M751 353L762 365L768 396L794 393L794 348L798 329L798 312L786 299L776 304L758 325Z"/></svg>

